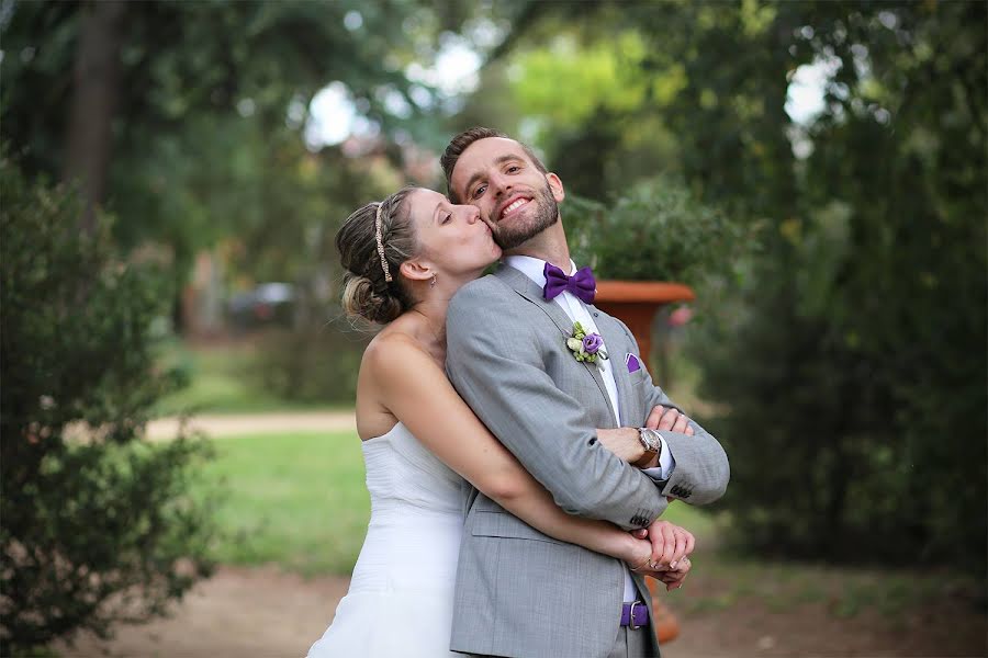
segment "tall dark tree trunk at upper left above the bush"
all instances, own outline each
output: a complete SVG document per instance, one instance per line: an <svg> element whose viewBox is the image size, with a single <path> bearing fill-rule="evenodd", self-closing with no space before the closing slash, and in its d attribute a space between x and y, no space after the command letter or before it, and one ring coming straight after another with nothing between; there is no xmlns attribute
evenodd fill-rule
<svg viewBox="0 0 988 658"><path fill-rule="evenodd" d="M106 0L82 8L72 71L65 180L79 188L86 204L82 229L90 231L94 208L106 192L113 115L120 91L120 47L124 2Z"/></svg>

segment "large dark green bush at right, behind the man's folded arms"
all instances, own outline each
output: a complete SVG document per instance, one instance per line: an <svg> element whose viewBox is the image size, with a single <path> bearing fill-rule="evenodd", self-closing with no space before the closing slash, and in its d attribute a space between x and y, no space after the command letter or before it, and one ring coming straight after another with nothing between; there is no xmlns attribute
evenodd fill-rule
<svg viewBox="0 0 988 658"><path fill-rule="evenodd" d="M731 460L725 504L760 555L984 574L984 194L885 160L903 162L896 213L863 198L782 223L697 342L704 395L728 407L710 423Z"/></svg>

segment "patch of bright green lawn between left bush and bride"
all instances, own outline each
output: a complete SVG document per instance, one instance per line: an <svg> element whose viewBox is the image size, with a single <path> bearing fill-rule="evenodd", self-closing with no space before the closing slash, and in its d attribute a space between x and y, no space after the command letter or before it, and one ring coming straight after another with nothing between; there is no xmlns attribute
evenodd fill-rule
<svg viewBox="0 0 988 658"><path fill-rule="evenodd" d="M349 574L370 517L355 433L239 436L213 445L216 458L203 476L207 487L225 490L216 514L218 561Z"/></svg>

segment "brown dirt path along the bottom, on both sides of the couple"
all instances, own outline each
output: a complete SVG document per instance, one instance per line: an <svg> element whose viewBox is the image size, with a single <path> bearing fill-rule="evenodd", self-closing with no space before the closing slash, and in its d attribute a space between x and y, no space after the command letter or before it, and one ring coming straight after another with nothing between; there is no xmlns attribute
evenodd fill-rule
<svg viewBox="0 0 988 658"><path fill-rule="evenodd" d="M171 619L121 627L110 643L81 638L56 648L72 658L301 657L332 621L348 582L305 580L274 567L224 567L199 583ZM674 611L687 597L722 583L697 578L692 585L695 593L684 589L669 600ZM950 604L896 622L877 613L837 619L824 603L770 612L759 601L739 601L729 610L677 614L682 634L664 645L663 658L985 656L984 615Z"/></svg>

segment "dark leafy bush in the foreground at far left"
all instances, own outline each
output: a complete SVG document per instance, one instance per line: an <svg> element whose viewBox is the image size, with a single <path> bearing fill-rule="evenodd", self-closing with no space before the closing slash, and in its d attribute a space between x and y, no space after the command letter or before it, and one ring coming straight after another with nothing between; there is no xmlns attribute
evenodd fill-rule
<svg viewBox="0 0 988 658"><path fill-rule="evenodd" d="M171 295L151 264L122 261L99 217L0 159L0 654L160 614L197 576L206 508L186 496L201 443L148 445L151 327ZM72 423L88 424L79 438Z"/></svg>

